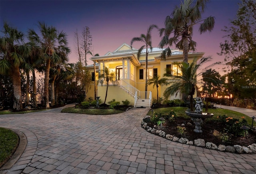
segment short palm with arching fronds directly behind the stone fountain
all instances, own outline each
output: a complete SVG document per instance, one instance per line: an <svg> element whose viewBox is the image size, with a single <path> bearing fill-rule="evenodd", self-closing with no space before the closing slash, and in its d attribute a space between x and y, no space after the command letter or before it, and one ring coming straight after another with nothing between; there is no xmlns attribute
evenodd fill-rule
<svg viewBox="0 0 256 174"><path fill-rule="evenodd" d="M167 98L169 95L178 94L178 92L184 93L185 95L190 97L190 110L193 110L193 95L196 92L197 87L197 76L201 75L196 73L197 70L201 67L201 65L207 61L209 61L210 57L202 57L198 62L196 59L193 60L191 64L186 62L182 62L180 69L182 75L172 76L171 86L167 87L164 91L164 96ZM213 63L212 65L216 65L217 63ZM210 66L204 68L208 69Z"/></svg>

